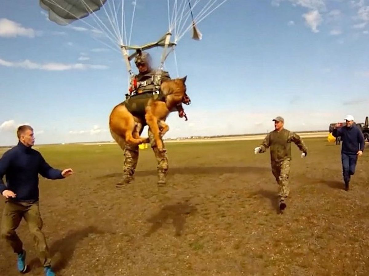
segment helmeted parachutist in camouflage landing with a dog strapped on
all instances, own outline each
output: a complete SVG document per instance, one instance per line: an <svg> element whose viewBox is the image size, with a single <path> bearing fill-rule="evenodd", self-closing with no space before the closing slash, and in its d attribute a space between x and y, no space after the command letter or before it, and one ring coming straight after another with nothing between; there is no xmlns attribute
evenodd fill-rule
<svg viewBox="0 0 369 276"><path fill-rule="evenodd" d="M155 93L162 81L170 79L168 72L162 71L158 76L157 72L151 68L151 57L146 52L141 52L135 58L135 64L139 70L139 74L135 76L134 84L131 84L130 93L128 96L130 101L134 101L135 95L142 93ZM185 114L182 106L178 107L179 116L183 117ZM183 115L184 114L184 115ZM183 116L182 116L183 115ZM140 123L137 123L137 130L141 135L142 130L146 124L144 117L140 118ZM154 134L151 130L148 132L151 147L155 153L155 158L158 161L158 186L164 186L166 183L166 174L168 171L168 157L166 149L163 144L163 150L159 151L156 146ZM124 149L124 164L123 164L123 181L116 185L117 188L129 184L134 179L134 173L138 162L138 146L125 145Z"/></svg>

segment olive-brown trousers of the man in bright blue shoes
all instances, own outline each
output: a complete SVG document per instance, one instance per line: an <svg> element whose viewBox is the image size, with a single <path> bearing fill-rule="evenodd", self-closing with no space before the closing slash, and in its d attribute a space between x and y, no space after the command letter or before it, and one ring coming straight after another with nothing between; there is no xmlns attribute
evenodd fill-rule
<svg viewBox="0 0 369 276"><path fill-rule="evenodd" d="M1 237L13 248L14 253L23 251L23 243L15 230L22 218L28 224L38 252L38 258L42 265L51 265L49 248L46 244L44 233L42 233L42 219L38 202L17 202L11 199L5 200L3 217L1 219Z"/></svg>

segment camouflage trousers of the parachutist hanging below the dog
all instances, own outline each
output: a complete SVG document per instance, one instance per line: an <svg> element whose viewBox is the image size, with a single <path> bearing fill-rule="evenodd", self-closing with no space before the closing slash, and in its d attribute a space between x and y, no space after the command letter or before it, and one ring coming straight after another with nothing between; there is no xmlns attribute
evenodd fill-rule
<svg viewBox="0 0 369 276"><path fill-rule="evenodd" d="M142 130L139 131L141 134ZM168 171L168 157L166 154L165 145L163 144L163 150L159 151L156 146L154 134L149 130L149 139L151 148L154 151L155 158L158 162L158 185L165 184L166 174ZM124 163L123 163L123 182L130 183L134 178L138 162L138 146L126 145L124 149Z"/></svg>

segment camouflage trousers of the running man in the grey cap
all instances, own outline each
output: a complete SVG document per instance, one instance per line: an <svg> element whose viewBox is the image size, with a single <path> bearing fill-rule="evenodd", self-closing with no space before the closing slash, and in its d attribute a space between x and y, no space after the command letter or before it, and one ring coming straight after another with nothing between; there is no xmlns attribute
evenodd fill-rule
<svg viewBox="0 0 369 276"><path fill-rule="evenodd" d="M280 162L272 161L272 173L277 180L279 186L278 195L280 199L286 199L290 193L288 178L290 175L291 160L283 160Z"/></svg>

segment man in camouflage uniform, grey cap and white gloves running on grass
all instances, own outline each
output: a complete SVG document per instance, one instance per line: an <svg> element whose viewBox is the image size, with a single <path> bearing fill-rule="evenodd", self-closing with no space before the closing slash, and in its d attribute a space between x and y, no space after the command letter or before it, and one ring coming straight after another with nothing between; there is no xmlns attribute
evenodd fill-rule
<svg viewBox="0 0 369 276"><path fill-rule="evenodd" d="M282 117L278 116L273 121L275 130L269 132L262 144L255 148L255 154L266 152L270 147L272 173L279 185L279 208L284 210L287 206L286 198L290 193L288 178L291 165L291 142L294 142L303 152L301 158L307 155L307 148L299 135L283 128Z"/></svg>

